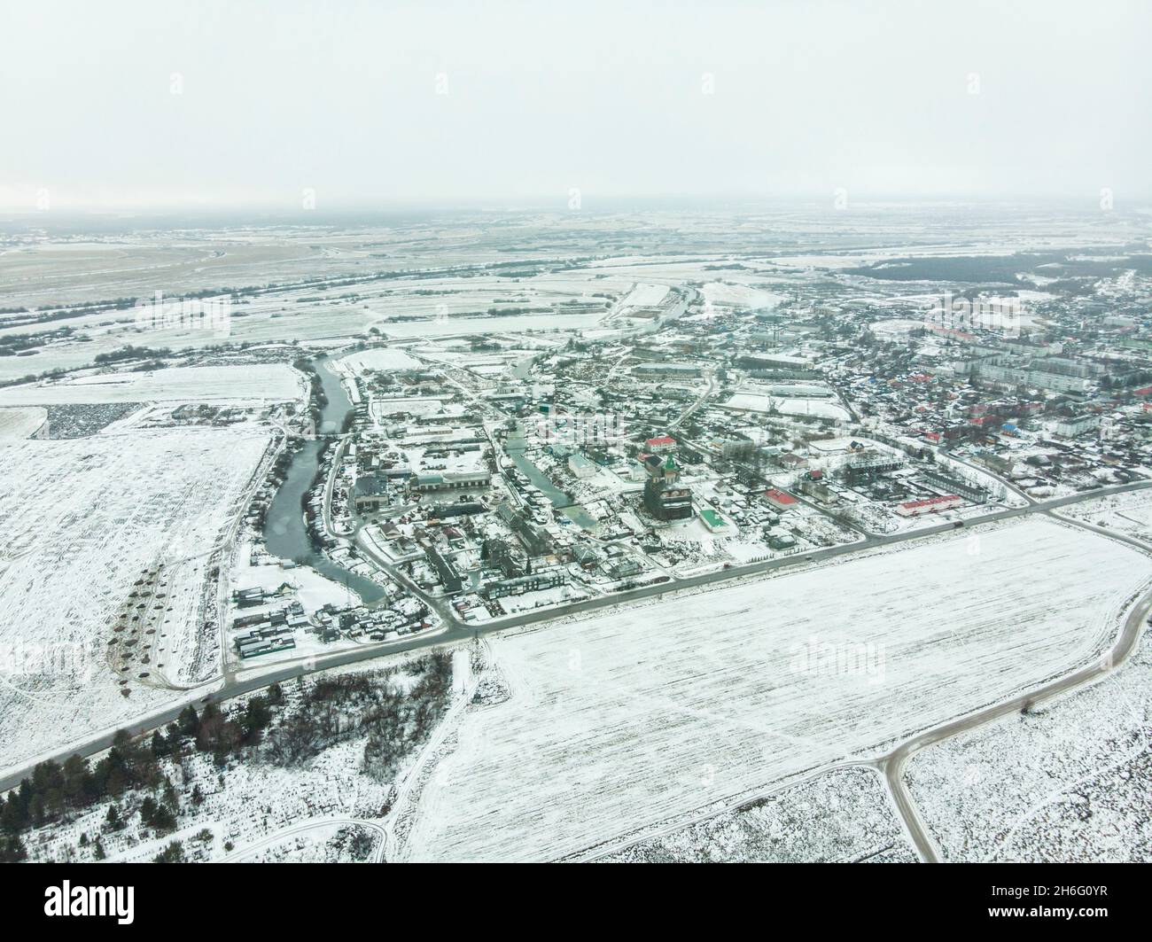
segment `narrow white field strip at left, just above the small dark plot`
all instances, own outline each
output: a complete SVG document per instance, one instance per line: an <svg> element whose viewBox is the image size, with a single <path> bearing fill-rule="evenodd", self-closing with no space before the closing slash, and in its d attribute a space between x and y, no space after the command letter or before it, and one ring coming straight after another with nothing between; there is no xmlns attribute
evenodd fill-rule
<svg viewBox="0 0 1152 942"><path fill-rule="evenodd" d="M0 389L0 405L83 402L199 402L302 398L303 379L283 364L173 366L141 373L91 373L59 382Z"/></svg>

